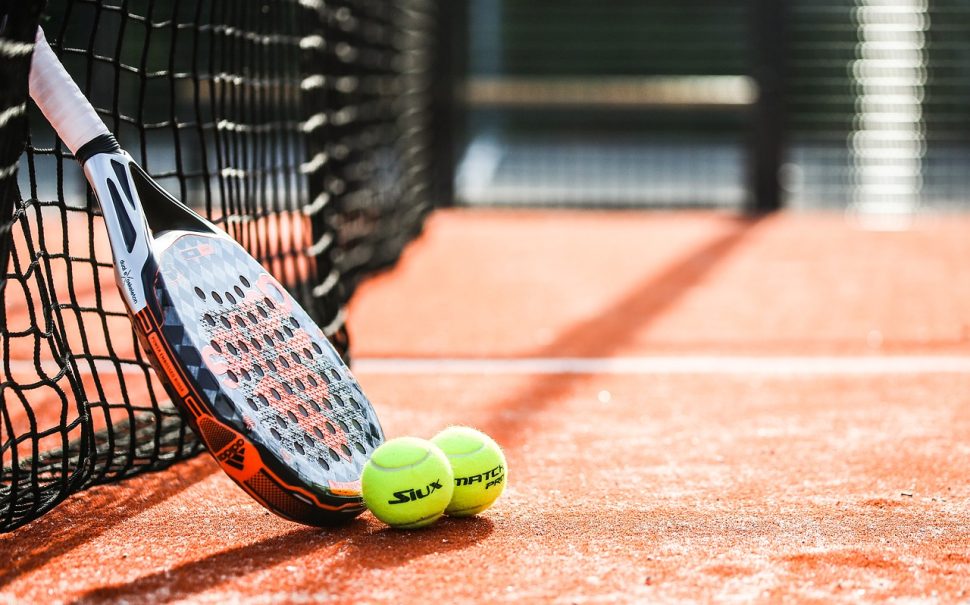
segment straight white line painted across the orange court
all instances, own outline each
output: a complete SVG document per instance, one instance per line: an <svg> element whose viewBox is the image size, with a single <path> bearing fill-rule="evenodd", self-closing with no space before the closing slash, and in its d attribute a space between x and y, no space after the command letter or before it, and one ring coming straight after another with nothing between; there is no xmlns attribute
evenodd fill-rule
<svg viewBox="0 0 970 605"><path fill-rule="evenodd" d="M531 357L522 359L360 358L368 374L740 374L864 376L970 374L970 356L855 357Z"/></svg>

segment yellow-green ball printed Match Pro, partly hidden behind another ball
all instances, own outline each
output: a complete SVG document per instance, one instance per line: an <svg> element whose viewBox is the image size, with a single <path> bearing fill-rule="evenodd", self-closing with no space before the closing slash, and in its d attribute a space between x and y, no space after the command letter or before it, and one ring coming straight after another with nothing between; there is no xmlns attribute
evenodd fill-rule
<svg viewBox="0 0 970 605"><path fill-rule="evenodd" d="M505 489L502 448L491 437L467 426L452 426L431 440L451 461L455 493L445 512L453 517L477 515Z"/></svg>

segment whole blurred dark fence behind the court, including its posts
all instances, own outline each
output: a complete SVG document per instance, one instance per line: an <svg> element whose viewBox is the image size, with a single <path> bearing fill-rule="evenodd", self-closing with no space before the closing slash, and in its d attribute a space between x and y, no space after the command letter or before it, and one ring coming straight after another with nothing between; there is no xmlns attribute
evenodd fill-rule
<svg viewBox="0 0 970 605"><path fill-rule="evenodd" d="M965 0L466 0L464 205L855 208L970 198Z"/></svg>

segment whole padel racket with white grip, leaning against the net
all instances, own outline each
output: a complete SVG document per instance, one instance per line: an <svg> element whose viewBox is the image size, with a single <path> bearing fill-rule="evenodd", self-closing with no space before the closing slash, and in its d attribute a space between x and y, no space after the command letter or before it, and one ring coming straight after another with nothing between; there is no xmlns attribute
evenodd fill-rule
<svg viewBox="0 0 970 605"><path fill-rule="evenodd" d="M30 94L97 196L143 349L222 469L293 521L360 513L360 473L384 436L320 328L242 246L132 161L39 28Z"/></svg>

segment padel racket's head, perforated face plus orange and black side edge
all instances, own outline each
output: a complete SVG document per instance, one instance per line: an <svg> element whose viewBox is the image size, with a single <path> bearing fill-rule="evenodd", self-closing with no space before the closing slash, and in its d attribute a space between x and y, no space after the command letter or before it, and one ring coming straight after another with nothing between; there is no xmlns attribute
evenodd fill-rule
<svg viewBox="0 0 970 605"><path fill-rule="evenodd" d="M163 343L146 348L178 366L158 363L223 469L297 521L361 512L360 474L383 433L319 327L224 236L156 234L154 257Z"/></svg>

